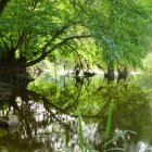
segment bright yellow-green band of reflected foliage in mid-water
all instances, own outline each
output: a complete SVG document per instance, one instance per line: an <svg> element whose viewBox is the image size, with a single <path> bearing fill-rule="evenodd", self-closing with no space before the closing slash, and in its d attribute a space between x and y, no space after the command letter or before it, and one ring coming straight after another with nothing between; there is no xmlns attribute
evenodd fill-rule
<svg viewBox="0 0 152 152"><path fill-rule="evenodd" d="M140 88L128 81L106 83L93 79L88 85L87 80L84 79L84 84L78 88L75 87L75 81L71 79L67 81L68 84L63 88L54 87L53 84L45 81L39 81L38 85L31 85L29 88L43 94L47 99L51 99L52 103L62 110L73 112L74 115L81 110L81 114L87 117L104 113L111 103L125 102L129 98L137 98L140 93L143 93L140 92ZM55 93L54 90L56 90Z"/></svg>

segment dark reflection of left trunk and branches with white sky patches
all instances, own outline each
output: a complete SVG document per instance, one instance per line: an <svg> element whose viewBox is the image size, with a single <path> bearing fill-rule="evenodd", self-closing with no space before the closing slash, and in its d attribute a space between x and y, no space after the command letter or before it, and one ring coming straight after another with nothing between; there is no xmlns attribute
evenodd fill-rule
<svg viewBox="0 0 152 152"><path fill-rule="evenodd" d="M68 117L66 111L55 105L51 100L48 100L43 96L35 91L27 90L26 86L27 84L17 84L17 88L13 86L13 88L10 89L10 96L3 102L8 113L12 111L13 107L14 114L18 115L20 117L21 126L18 129L16 128L14 132L9 134L2 138L0 140L0 144L5 145L9 149L11 147L15 148L16 145L15 150L13 150L14 148L11 148L12 152L22 150L26 151L27 149L31 151L33 149L40 149L45 148L46 145L49 151L52 151L54 143L50 138L53 138L53 136L58 134L62 134L62 130L65 130L65 132L74 134L76 130L74 130L71 125L73 125L75 121L66 119L66 117ZM40 110L42 110L42 112L39 112ZM39 119L41 116L42 119ZM54 126L54 129L56 128L55 131L59 131L58 134L49 129L49 127L52 127L52 125ZM64 136L66 135L67 134ZM9 139L9 142L5 142L7 138ZM55 138L56 140L60 140L58 138L61 137L56 136ZM20 141L17 142L17 140ZM47 143L43 143L43 141ZM14 142L16 142L18 145ZM50 142L52 143L50 144Z"/></svg>

